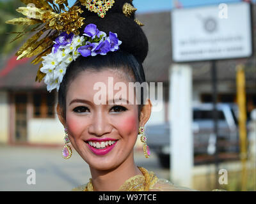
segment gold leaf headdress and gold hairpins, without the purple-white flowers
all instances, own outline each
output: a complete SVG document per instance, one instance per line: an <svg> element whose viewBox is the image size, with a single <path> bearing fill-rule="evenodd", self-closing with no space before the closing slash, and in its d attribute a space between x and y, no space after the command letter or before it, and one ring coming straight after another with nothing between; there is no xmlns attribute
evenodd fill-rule
<svg viewBox="0 0 256 204"><path fill-rule="evenodd" d="M115 3L114 0L79 0L72 7L69 7L67 0L20 1L26 4L27 7L19 7L16 11L25 15L26 18L13 18L12 20L7 20L6 24L26 25L24 31L18 32L12 41L17 40L26 33L37 32L15 54L17 60L37 55L31 62L32 64L42 62L44 60L43 57L51 54L55 43L54 40L60 36L61 32L79 35L79 28L82 27L86 19L81 17L83 10L81 10L80 6L77 6L77 3L80 2L88 10L97 13L102 18L105 17L106 11ZM123 13L125 16L130 17L135 11L136 8L131 4L124 4ZM135 22L143 25L138 20L135 20ZM31 25L33 25L33 28L30 27L29 29ZM42 39L40 39L41 37ZM42 67L43 64L40 64L36 75L36 81L39 82L45 77L45 73L40 71Z"/></svg>

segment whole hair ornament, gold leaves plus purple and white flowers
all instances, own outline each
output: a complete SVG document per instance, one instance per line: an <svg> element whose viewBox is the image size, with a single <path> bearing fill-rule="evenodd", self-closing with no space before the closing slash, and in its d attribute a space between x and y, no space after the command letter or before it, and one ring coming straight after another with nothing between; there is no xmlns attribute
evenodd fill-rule
<svg viewBox="0 0 256 204"><path fill-rule="evenodd" d="M106 55L108 52L118 50L122 43L116 33L109 32L107 36L103 31L99 31L95 24L86 25L83 36L79 36L79 29L86 23L86 18L81 17L83 10L79 5L104 18L106 12L115 4L114 0L77 0L71 7L68 6L67 0L20 1L27 7L19 7L16 11L26 18L13 18L7 20L6 24L25 25L25 28L20 32L12 32L17 33L12 41L24 34L36 33L19 48L15 55L17 60L36 56L31 62L32 64L41 62L36 81L44 80L49 92L53 89L59 90L68 64L76 61L79 55L83 57ZM125 3L122 11L129 18L136 8L130 3ZM143 25L138 19L134 22ZM29 28L31 25L33 27Z"/></svg>

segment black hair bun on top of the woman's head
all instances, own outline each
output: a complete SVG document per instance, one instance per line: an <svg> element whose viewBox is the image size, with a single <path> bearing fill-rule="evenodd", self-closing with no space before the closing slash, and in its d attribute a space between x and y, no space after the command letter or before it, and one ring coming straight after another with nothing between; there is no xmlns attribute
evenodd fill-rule
<svg viewBox="0 0 256 204"><path fill-rule="evenodd" d="M134 22L134 13L126 17L123 13L125 3L131 3L131 0L115 0L113 6L106 12L104 18L100 18L97 13L89 11L86 6L81 6L84 11L81 16L84 17L84 25L79 29L82 34L84 27L88 24L95 24L100 31L105 33L116 33L118 39L122 41L120 50L134 55L139 62L143 62L148 54L148 40L140 25Z"/></svg>

